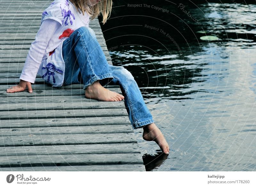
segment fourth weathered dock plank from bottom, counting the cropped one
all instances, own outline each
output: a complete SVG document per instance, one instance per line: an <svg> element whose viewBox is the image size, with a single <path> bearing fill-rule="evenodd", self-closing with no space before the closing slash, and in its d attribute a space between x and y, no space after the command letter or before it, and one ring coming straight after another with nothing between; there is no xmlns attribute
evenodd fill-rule
<svg viewBox="0 0 256 187"><path fill-rule="evenodd" d="M76 135L3 136L0 146L71 145L71 144L114 144L136 143L134 133L101 133ZM4 160L0 159L0 164Z"/></svg>

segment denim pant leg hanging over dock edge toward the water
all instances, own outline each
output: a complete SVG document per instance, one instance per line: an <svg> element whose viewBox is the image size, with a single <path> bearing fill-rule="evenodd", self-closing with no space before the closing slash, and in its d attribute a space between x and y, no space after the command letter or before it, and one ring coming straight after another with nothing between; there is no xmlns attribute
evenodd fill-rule
<svg viewBox="0 0 256 187"><path fill-rule="evenodd" d="M122 66L109 65L109 71L114 77L109 85L120 86L132 127L137 129L154 123L132 74Z"/></svg>

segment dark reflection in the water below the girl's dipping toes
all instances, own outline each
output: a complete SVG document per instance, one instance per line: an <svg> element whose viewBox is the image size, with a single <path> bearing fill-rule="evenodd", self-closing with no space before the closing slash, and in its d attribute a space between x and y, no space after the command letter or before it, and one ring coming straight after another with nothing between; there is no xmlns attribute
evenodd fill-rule
<svg viewBox="0 0 256 187"><path fill-rule="evenodd" d="M166 160L168 157L168 154L164 154L162 151L157 152L155 155L150 154L144 154L142 156L143 164L145 165L146 171L151 171L155 169L156 167L161 166L164 163L164 160Z"/></svg>

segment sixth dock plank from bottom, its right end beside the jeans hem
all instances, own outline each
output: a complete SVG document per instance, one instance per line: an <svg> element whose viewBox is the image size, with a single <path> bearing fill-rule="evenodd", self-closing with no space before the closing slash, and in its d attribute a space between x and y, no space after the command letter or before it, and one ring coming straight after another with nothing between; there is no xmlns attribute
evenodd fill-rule
<svg viewBox="0 0 256 187"><path fill-rule="evenodd" d="M16 119L0 120L0 128L24 128L24 127L59 127L78 125L119 125L130 124L128 116L118 117L90 117L90 118L59 118L59 119Z"/></svg>

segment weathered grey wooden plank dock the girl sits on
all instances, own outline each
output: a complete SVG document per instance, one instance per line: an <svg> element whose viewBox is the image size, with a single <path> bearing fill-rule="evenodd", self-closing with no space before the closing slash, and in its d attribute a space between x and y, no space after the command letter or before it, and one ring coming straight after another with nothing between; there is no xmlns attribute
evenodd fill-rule
<svg viewBox="0 0 256 187"><path fill-rule="evenodd" d="M51 3L0 3L0 171L145 171L123 101L87 99L82 84L54 88L39 76L33 93L6 93ZM90 27L111 63L98 19Z"/></svg>

